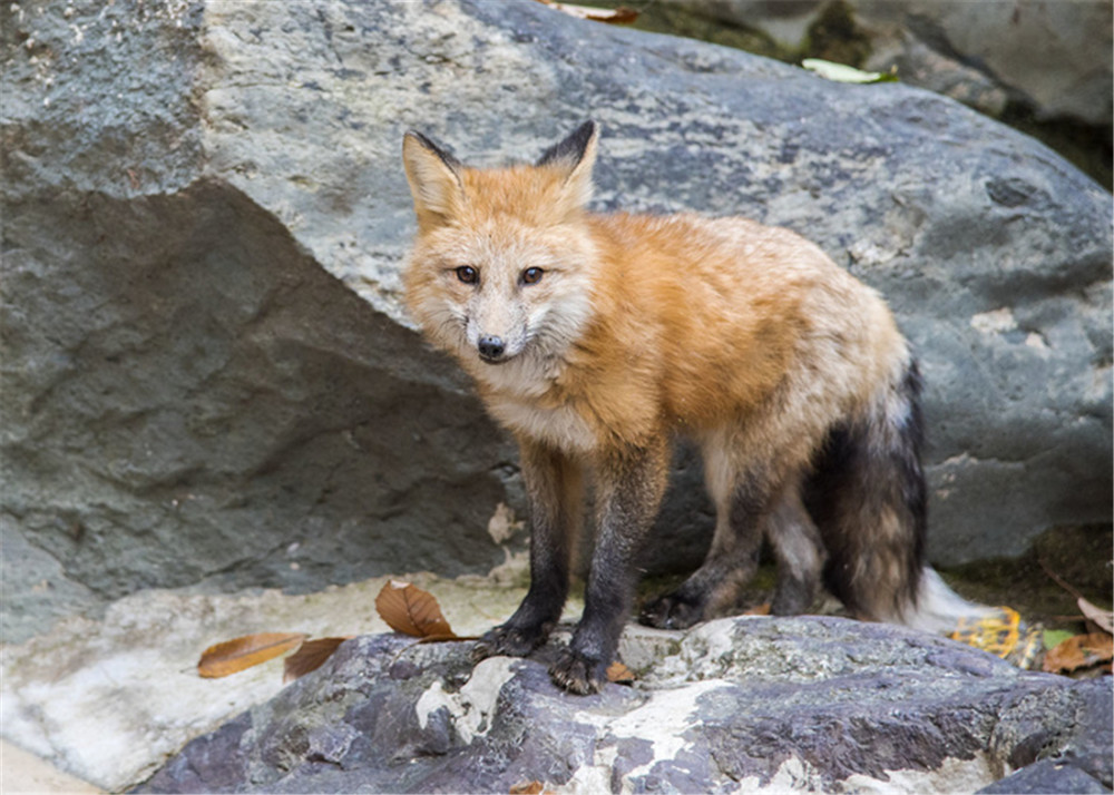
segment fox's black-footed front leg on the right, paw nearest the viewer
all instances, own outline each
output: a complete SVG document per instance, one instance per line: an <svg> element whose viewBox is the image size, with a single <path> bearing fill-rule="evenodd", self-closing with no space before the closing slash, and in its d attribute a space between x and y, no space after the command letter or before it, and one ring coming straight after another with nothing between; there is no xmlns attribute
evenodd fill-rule
<svg viewBox="0 0 1114 795"><path fill-rule="evenodd" d="M549 668L554 681L580 695L598 693L631 611L634 562L665 491L668 445L625 450L598 469L599 537L573 640Z"/></svg>

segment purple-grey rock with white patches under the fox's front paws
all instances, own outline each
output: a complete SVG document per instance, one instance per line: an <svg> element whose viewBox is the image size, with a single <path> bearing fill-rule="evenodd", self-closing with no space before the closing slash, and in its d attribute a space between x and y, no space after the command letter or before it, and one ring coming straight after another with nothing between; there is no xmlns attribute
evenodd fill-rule
<svg viewBox="0 0 1114 795"><path fill-rule="evenodd" d="M632 628L636 686L589 697L550 684L551 651L472 669L467 644L358 638L139 792L973 792L1038 765L1055 766L1048 792L1111 784L1108 680L898 628Z"/></svg>

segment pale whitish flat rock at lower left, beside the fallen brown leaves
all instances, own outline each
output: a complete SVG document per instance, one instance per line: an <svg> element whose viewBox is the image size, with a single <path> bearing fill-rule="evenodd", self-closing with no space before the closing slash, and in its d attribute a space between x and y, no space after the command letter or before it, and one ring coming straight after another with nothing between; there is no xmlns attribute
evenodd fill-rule
<svg viewBox="0 0 1114 795"><path fill-rule="evenodd" d="M479 578L408 579L437 598L461 635L489 629L525 596L525 588ZM115 602L101 620L66 619L0 648L2 736L108 792L127 789L189 739L282 690L282 659L203 679L196 668L203 649L255 632L320 638L388 631L374 608L385 582L305 596L145 591ZM568 615L577 609L571 601Z"/></svg>

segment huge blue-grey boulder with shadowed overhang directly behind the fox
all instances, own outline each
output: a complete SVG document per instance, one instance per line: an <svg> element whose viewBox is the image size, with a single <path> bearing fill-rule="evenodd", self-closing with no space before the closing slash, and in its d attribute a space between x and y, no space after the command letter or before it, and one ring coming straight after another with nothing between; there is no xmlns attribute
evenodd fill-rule
<svg viewBox="0 0 1114 795"><path fill-rule="evenodd" d="M593 116L600 209L788 225L877 286L938 562L1110 520L1111 197L956 104L540 3L0 13L8 640L150 586L505 560L514 450L400 310L410 126L491 161ZM707 542L677 470L648 568Z"/></svg>

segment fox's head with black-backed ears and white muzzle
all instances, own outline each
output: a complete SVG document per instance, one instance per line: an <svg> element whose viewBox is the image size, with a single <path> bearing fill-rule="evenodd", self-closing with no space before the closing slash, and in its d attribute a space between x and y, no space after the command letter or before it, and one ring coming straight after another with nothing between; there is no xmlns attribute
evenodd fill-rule
<svg viewBox="0 0 1114 795"><path fill-rule="evenodd" d="M436 345L489 383L558 362L590 316L584 206L597 137L587 121L534 165L490 169L420 132L403 139L418 215L407 303Z"/></svg>

